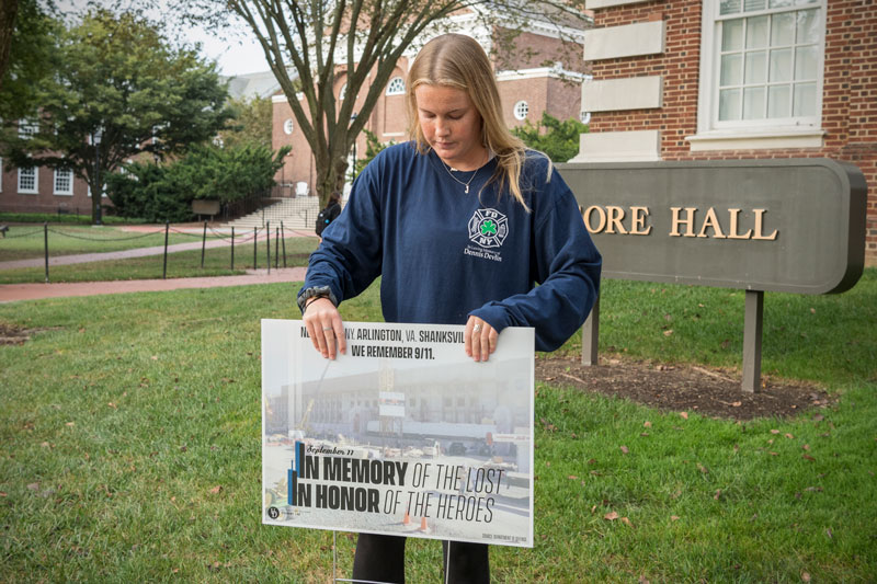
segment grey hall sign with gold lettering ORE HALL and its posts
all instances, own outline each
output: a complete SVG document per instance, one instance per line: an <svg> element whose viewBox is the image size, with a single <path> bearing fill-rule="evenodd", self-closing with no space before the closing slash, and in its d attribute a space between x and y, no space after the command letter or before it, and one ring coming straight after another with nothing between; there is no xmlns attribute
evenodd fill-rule
<svg viewBox="0 0 877 584"><path fill-rule="evenodd" d="M558 164L603 276L745 290L744 391L758 391L765 291L850 289L865 261L867 186L828 159ZM582 363L597 356L599 304Z"/></svg>

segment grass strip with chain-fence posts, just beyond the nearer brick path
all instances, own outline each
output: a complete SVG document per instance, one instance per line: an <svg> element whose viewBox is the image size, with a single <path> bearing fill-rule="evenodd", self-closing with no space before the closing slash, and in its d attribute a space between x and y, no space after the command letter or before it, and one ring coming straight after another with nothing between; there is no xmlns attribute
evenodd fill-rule
<svg viewBox="0 0 877 584"><path fill-rule="evenodd" d="M153 236L150 236L150 238L151 237ZM164 236L161 234L160 238L160 245L163 245ZM178 243L191 243L193 241L192 237L178 236L178 238L184 238L183 240L178 241ZM196 238L194 241L198 242L198 239L200 238ZM286 238L285 245L286 266L294 267L307 265L308 255L317 247L317 243L314 238L296 237ZM265 268L267 263L267 250L265 248L266 245L264 241L257 245L257 262L253 264L252 241L246 243L236 243L234 271L231 270L230 247L207 249L204 253L203 268L201 267L201 249L169 253L168 277L227 276L242 274L246 270L253 268L253 266ZM49 249L52 249L52 243L49 243ZM275 257L275 249L276 241L272 237L271 267L273 268L275 265L283 267L283 244L281 244L280 261L277 261ZM0 242L0 251L2 251L2 242ZM0 254L0 257L2 257L2 254ZM53 283L59 283L160 278L162 277L164 270L163 262L163 255L158 254L145 257L89 262L83 264L54 265L49 266L49 280ZM45 282L44 265L0 271L0 284L42 282Z"/></svg>

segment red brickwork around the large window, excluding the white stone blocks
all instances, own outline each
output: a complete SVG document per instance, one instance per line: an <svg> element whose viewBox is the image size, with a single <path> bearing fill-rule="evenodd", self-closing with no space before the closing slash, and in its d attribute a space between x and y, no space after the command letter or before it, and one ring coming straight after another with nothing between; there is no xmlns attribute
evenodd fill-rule
<svg viewBox="0 0 877 584"><path fill-rule="evenodd" d="M595 12L595 26L663 20L662 55L591 62L594 79L661 75L663 107L596 113L591 131L658 129L663 160L825 157L857 165L868 183L866 262L877 265L877 10L859 0L828 0L821 148L691 152L697 131L701 0L654 1ZM585 55L586 59L586 55Z"/></svg>

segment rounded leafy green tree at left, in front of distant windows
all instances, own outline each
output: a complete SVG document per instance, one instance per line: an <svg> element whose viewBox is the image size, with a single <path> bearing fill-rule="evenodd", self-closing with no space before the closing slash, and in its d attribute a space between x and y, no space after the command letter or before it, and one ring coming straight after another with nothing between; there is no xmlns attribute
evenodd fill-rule
<svg viewBox="0 0 877 584"><path fill-rule="evenodd" d="M38 131L20 139L16 119L4 121L0 153L13 165L69 169L96 193L130 157L180 152L228 118L215 66L136 15L91 12L58 35L56 48L60 65L34 94ZM90 137L101 129L95 148Z"/></svg>

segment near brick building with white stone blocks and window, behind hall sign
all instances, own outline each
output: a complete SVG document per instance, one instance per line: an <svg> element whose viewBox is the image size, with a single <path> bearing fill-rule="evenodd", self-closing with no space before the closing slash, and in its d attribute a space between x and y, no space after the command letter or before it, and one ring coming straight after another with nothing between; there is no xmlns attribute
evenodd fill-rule
<svg viewBox="0 0 877 584"><path fill-rule="evenodd" d="M877 265L877 10L858 0L586 0L578 162L812 158L868 183Z"/></svg>

